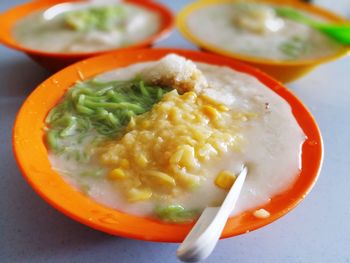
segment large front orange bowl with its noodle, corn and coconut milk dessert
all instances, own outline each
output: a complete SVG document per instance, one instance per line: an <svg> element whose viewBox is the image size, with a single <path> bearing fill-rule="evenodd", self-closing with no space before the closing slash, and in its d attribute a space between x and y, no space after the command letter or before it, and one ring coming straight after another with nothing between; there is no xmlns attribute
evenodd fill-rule
<svg viewBox="0 0 350 263"><path fill-rule="evenodd" d="M60 71L28 97L13 139L23 174L54 207L153 241L181 241L242 163L249 176L222 237L271 223L305 197L322 162L316 123L277 81L231 58L174 49Z"/></svg>

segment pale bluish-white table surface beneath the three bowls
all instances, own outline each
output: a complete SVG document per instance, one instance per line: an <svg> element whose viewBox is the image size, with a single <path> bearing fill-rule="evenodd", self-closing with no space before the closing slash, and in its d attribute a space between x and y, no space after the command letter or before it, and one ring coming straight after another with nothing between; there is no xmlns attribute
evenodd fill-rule
<svg viewBox="0 0 350 263"><path fill-rule="evenodd" d="M0 1L0 12L23 1ZM178 11L186 1L162 1ZM350 15L350 0L320 0ZM1 25L0 25L1 27ZM177 31L157 44L195 48ZM25 97L49 72L0 46L0 262L178 262L176 244L113 237L57 212L15 163L11 129ZM350 58L321 66L288 87L322 131L325 158L309 196L278 221L221 240L206 262L350 262Z"/></svg>

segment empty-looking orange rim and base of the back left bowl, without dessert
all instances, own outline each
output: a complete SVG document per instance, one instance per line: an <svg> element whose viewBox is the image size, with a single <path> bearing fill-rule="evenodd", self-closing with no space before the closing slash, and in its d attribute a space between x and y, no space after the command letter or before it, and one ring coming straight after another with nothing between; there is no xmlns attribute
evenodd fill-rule
<svg viewBox="0 0 350 263"><path fill-rule="evenodd" d="M124 2L141 6L153 12L156 12L161 17L161 25L158 31L152 36L146 38L145 40L132 44L123 48L102 50L97 52L84 52L84 53L54 53L41 50L35 50L27 48L20 43L18 43L12 36L12 29L15 24L23 19L25 16L38 11L40 9L49 8L58 3L62 2L74 2L77 0L36 0L28 2L26 4L14 7L5 13L0 15L0 43L2 42L6 46L16 49L18 51L26 53L30 58L36 61L38 64L42 65L44 68L50 71L57 71L62 69L74 62L82 59L93 57L96 55L101 55L103 53L111 51L121 51L129 49L140 49L151 46L157 40L166 37L174 24L174 17L171 11L165 6L155 3L153 1L142 1L142 0L124 0ZM82 0L87 1L87 0Z"/></svg>

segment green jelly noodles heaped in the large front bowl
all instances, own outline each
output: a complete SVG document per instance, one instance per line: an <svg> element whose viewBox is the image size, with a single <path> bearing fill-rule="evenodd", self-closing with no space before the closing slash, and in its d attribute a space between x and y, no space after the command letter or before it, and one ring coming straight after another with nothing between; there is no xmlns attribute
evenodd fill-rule
<svg viewBox="0 0 350 263"><path fill-rule="evenodd" d="M121 136L132 116L149 111L170 90L137 78L78 83L46 117L47 146L55 154L73 152L77 161L86 159L69 142L81 143L91 134L92 144Z"/></svg>

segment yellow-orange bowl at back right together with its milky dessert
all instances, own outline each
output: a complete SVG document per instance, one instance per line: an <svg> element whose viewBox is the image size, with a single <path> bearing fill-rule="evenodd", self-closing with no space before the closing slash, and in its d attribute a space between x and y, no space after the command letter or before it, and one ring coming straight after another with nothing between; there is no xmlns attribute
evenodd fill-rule
<svg viewBox="0 0 350 263"><path fill-rule="evenodd" d="M177 18L183 35L201 48L292 81L321 63L348 53L349 46L285 16L294 11L315 21L348 24L321 8L297 1L198 1Z"/></svg>

